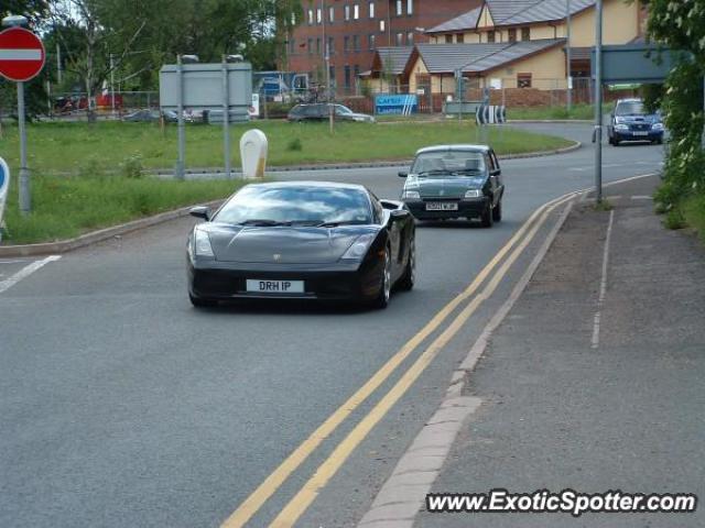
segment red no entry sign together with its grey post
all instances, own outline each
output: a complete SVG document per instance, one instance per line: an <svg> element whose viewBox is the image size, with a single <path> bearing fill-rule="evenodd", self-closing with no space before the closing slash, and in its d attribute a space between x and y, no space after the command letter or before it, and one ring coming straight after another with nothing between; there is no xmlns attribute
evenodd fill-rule
<svg viewBox="0 0 705 528"><path fill-rule="evenodd" d="M0 75L18 84L18 127L20 132L20 212L32 210L30 168L26 163L26 128L24 123L24 81L34 78L44 67L46 54L39 36L20 28L26 19L7 16L3 25L14 25L0 32Z"/></svg>

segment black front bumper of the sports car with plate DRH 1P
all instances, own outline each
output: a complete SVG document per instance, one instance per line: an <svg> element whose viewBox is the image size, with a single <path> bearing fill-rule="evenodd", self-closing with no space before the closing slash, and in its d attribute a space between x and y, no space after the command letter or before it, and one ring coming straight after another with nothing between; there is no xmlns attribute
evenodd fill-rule
<svg viewBox="0 0 705 528"><path fill-rule="evenodd" d="M187 258L188 292L200 299L371 300L379 295L382 260L336 264L267 264ZM253 293L247 280L303 280L304 293Z"/></svg>

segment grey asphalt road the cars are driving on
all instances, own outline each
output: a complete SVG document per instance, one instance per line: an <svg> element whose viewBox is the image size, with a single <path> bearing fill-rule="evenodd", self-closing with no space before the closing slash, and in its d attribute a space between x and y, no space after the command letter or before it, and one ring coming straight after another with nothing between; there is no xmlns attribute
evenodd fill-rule
<svg viewBox="0 0 705 528"><path fill-rule="evenodd" d="M0 526L212 527L223 522L318 426L490 262L539 206L593 183L592 128L523 125L586 143L507 161L505 220L417 230L419 283L383 312L271 304L194 310L185 292L191 219L42 262L0 261ZM459 139L459 141L462 141ZM430 143L433 139L430 138ZM659 146L605 147L605 180L660 168ZM399 196L397 168L310 172ZM549 223L538 233L549 229ZM531 256L534 243L365 435L297 526L357 521L435 409L449 373ZM4 285L4 286L3 286ZM350 407L249 526L268 526L443 331ZM339 457L338 457L339 458Z"/></svg>

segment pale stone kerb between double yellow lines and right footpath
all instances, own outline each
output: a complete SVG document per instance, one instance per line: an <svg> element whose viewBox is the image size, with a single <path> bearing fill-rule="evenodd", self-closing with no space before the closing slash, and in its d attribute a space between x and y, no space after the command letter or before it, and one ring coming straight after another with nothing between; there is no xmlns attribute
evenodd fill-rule
<svg viewBox="0 0 705 528"><path fill-rule="evenodd" d="M527 288L531 277L533 277L534 273L539 268L539 265L543 262L549 249L553 244L558 231L573 209L574 202L574 200L571 200L565 207L531 264L529 264L529 267L512 289L509 298L492 316L458 370L453 373L451 386L446 392L444 402L441 404L431 420L421 429L421 432L419 432L410 448L404 452L394 468L392 475L384 485L382 485L380 492L372 502L372 506L358 524L358 528L373 528L375 526L381 526L379 522L380 514L384 516L384 526L408 526L406 524L409 520L412 519L413 521L419 509L424 505L426 494L431 492L433 482L435 482L435 479L440 475L443 463L445 463L445 460L449 454L457 433L481 403L477 397L463 396L463 389L465 386L464 381L466 380L467 374L475 369L477 361L487 349L487 344L492 332L507 317L507 314L509 314L517 299L519 299L523 290ZM448 409L455 409L451 417L448 416ZM441 425L444 425L445 428L440 429ZM424 452L424 448L430 447L445 453L443 455L443 461L437 469L430 470L429 464L422 454ZM401 487L401 483L404 481L399 480L400 475L410 475L419 472L425 473L423 485L420 484L414 486L413 493L405 486L404 488ZM430 479L430 476L433 476L433 479ZM406 479L409 477L406 476ZM389 510L388 506L390 501L400 496L403 497L403 502L398 502L395 504L393 514L397 514L398 516L393 517L391 515L392 512Z"/></svg>

